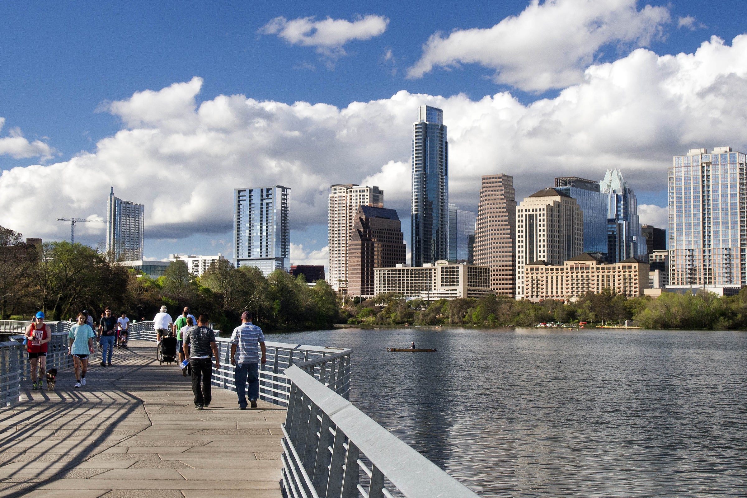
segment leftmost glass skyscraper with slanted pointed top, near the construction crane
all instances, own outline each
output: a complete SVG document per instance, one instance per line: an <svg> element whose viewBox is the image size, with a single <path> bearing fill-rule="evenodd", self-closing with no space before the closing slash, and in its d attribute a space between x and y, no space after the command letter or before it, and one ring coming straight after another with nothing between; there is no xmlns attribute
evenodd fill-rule
<svg viewBox="0 0 747 498"><path fill-rule="evenodd" d="M123 201L109 192L106 225L106 251L116 261L143 259L143 228L145 206Z"/></svg>

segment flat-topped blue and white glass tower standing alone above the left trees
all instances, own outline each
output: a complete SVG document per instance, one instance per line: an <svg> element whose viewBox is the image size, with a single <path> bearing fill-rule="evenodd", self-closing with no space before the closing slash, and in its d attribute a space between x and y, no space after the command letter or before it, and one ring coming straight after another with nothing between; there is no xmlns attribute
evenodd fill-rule
<svg viewBox="0 0 747 498"><path fill-rule="evenodd" d="M258 267L264 276L291 269L289 190L282 185L234 190L235 267Z"/></svg>

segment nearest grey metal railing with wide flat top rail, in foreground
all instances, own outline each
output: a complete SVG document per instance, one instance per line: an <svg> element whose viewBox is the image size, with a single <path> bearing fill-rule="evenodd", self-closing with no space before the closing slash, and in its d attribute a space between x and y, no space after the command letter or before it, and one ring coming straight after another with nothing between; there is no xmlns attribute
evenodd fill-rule
<svg viewBox="0 0 747 498"><path fill-rule="evenodd" d="M285 370L291 399L282 426L284 497L477 498L308 370Z"/></svg>

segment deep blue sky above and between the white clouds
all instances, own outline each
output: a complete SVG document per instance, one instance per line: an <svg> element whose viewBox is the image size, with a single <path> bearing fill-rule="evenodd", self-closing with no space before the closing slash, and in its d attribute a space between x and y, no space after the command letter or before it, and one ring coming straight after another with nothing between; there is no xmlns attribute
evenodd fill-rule
<svg viewBox="0 0 747 498"><path fill-rule="evenodd" d="M620 2L610 0L610 3ZM696 1L650 1L638 2L636 7L642 10L647 4L663 7L669 12L670 20L659 23L659 34L652 37L650 43L645 43L648 49L660 56L680 52L691 54L712 35L731 44L734 37L746 31L742 20L746 17L745 2L722 1L706 5ZM108 102L123 102L134 93L158 91L175 83L190 81L194 76L203 81L195 97L197 105L221 95L243 95L256 101L288 105L303 101L343 109L351 102L390 99L400 90L444 98L464 93L472 102L480 101L483 96L509 92L525 106L541 99L554 99L570 85L527 90L526 85L496 82L495 69L486 67L484 63L462 63L448 69L436 66L421 78L406 78L408 68L424 55L423 45L434 33L441 31L442 36L447 37L457 29L491 28L507 16L520 14L525 8L527 1L465 1L458 6L453 2L431 1L427 8L422 2L402 1L379 1L375 5L350 1L324 4L6 2L0 16L4 47L0 52L4 69L0 84L0 117L4 118L4 126L0 137L16 133L13 128L19 128L28 142L40 140L54 152L52 158L43 158L42 154L17 158L0 155L0 168L6 171L33 164L49 167L69 161L81 151L95 154L99 140L114 137L125 128L133 128L123 124L126 116L112 111ZM275 34L258 34L258 30L278 16L288 20L315 16L316 21L329 16L352 22L358 19L356 16L367 14L385 17L385 31L367 40L342 44L345 55L338 52L337 55L325 55L318 53L314 46L292 45ZM687 16L694 20L678 27L678 19ZM593 63L622 59L638 46L641 43L628 40L603 44L592 51ZM527 66L531 66L530 60L527 60ZM456 119L456 116L447 114L445 119L449 125L449 119ZM401 140L403 146L397 150L408 149L409 135L403 134ZM715 145L719 144L704 146ZM667 150L662 156L671 157L679 152L678 149ZM619 154L624 156L625 152ZM402 158L391 157L391 160L401 161ZM381 163L379 161L374 166L380 168ZM308 167L313 172L314 164ZM624 168L624 164L621 167ZM549 184L554 172L552 168L548 169ZM371 169L365 176L375 174L376 169ZM637 173L630 173L628 179L632 180L634 174ZM327 179L359 183L364 179L361 175L344 178L341 174L339 178ZM199 183L196 181L199 175L187 176L192 184ZM160 178L160 187L162 190L179 190L181 180L177 169ZM127 193L136 191L137 181L138 178L134 178ZM143 177L140 181L151 180ZM250 179L246 178L246 181ZM282 178L279 182L284 183ZM83 178L80 188L94 189L95 183L87 186ZM666 206L662 185L660 183L658 188L649 190L638 189L639 204ZM244 186L231 185L230 189L210 191L207 195L230 196L233 187ZM529 186L521 192L527 193L531 188ZM453 190L457 192L459 189ZM105 199L107 191L91 190L90 195ZM193 192L199 192L199 187L189 187L185 195ZM47 194L53 195L53 192ZM459 190L458 199L464 208L476 207L477 186L472 197L465 190ZM79 201L60 202L52 206L53 214L50 211L44 216L103 214L100 207L100 200L82 207ZM401 199L395 207L400 215L406 216L406 205ZM72 212L77 208L81 211ZM317 206L317 211L323 210ZM226 216L230 217L230 214ZM0 214L0 224L12 225L12 222ZM33 237L37 235L33 233L33 226L29 222L19 222L16 229ZM49 239L66 237L66 228L60 228L58 231L48 228L41 235ZM307 252L326 245L326 228L320 217L305 220L294 228L295 241L303 243ZM170 252L211 252L213 249L217 252L215 248L222 243L216 241L223 240L225 245L230 234L225 230L208 233L210 231L199 228L195 230L196 234L186 237L182 231L173 238L159 237L159 234L166 233L164 231L154 232L158 238L148 241L146 255L164 258ZM89 243L101 238L96 233L85 232L81 237L87 237L84 240Z"/></svg>

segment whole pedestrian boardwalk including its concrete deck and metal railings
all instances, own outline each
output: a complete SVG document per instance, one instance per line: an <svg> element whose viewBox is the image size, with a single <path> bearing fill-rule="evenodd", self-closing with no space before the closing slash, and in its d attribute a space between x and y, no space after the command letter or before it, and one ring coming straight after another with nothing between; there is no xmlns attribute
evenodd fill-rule
<svg viewBox="0 0 747 498"><path fill-rule="evenodd" d="M0 497L477 496L347 400L350 349L268 341L258 407L240 411L220 338L213 400L196 411L190 379L155 360L152 322L113 366L92 358L79 389L71 324L51 325L54 391L31 389L18 336L0 343Z"/></svg>

